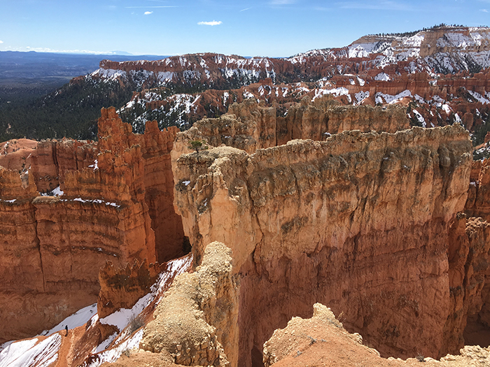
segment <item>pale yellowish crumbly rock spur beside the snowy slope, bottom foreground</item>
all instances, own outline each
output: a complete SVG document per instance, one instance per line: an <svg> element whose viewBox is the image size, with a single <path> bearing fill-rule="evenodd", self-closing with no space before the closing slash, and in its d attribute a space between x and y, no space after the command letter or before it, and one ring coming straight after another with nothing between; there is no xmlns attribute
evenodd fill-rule
<svg viewBox="0 0 490 367"><path fill-rule="evenodd" d="M184 366L237 366L237 280L231 251L207 245L202 264L184 273L158 303L140 347Z"/></svg>

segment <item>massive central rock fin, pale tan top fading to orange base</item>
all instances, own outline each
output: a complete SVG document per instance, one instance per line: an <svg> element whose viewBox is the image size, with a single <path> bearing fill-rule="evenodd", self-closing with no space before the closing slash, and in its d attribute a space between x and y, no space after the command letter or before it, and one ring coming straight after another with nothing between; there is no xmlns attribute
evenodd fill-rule
<svg viewBox="0 0 490 367"><path fill-rule="evenodd" d="M182 155L175 205L195 259L220 240L241 275L240 364L318 301L381 354L444 355L446 248L470 151L453 126Z"/></svg>

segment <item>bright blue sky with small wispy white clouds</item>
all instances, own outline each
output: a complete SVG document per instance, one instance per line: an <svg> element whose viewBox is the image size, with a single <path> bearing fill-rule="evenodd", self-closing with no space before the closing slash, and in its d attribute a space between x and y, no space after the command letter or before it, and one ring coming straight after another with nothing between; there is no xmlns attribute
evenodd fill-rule
<svg viewBox="0 0 490 367"><path fill-rule="evenodd" d="M0 50L287 57L489 18L490 0L0 0Z"/></svg>

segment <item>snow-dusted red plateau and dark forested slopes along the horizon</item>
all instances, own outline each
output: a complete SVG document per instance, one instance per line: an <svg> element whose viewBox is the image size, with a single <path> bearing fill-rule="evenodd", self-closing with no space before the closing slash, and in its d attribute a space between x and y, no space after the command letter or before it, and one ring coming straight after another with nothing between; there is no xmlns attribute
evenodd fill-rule
<svg viewBox="0 0 490 367"><path fill-rule="evenodd" d="M29 64L30 52L19 54L0 53L0 75L35 75L34 71L29 74L29 68L36 69ZM17 64L15 57L21 60ZM440 26L409 34L370 35L344 48L286 58L213 53L165 59L108 55L97 68L94 61L103 55L34 53L32 57L41 57L37 65L58 65L59 75L78 70L82 76L36 101L30 113L5 108L0 101L3 140L15 136L94 138L101 107L116 106L123 120L142 132L146 120L158 120L160 128L184 129L202 117L219 116L230 103L246 98L277 106L283 115L290 103L325 94L344 104L405 103L413 124L421 126L460 121L464 115L471 129L479 129L478 136L490 129L486 127L488 27ZM25 114L28 123L22 117Z"/></svg>

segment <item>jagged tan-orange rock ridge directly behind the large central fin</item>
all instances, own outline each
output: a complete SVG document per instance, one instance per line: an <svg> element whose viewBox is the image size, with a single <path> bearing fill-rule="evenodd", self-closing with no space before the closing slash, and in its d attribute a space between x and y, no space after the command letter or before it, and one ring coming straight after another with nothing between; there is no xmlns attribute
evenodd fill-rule
<svg viewBox="0 0 490 367"><path fill-rule="evenodd" d="M233 103L228 113L219 118L205 118L194 124L200 138L210 145L225 144L248 154L293 139L324 141L331 134L346 130L394 133L409 127L405 109L400 106L339 106L330 96L313 102L305 97L288 110L286 117L277 116L277 106L265 107L255 99L246 99Z"/></svg>

